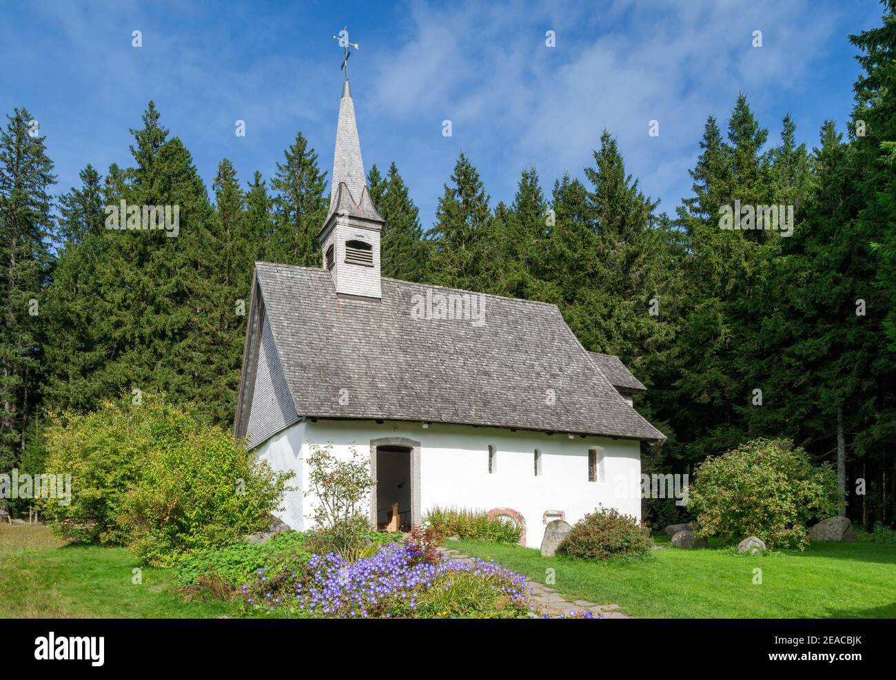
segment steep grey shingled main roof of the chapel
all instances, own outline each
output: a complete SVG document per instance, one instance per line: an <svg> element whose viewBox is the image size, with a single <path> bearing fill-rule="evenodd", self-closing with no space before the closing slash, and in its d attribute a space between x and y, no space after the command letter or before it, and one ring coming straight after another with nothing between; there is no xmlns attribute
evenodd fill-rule
<svg viewBox="0 0 896 680"><path fill-rule="evenodd" d="M412 314L427 291L478 295L468 291L383 278L382 300L340 298L327 271L270 263L255 264L255 280L263 299L253 306L267 314L299 416L665 439L554 305L482 296L484 323L474 325Z"/></svg>

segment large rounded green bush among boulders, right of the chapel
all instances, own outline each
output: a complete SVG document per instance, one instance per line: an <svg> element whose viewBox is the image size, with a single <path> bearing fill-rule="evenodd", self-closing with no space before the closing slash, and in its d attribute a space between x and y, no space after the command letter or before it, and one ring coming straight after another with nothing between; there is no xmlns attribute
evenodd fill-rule
<svg viewBox="0 0 896 680"><path fill-rule="evenodd" d="M814 467L784 439L755 439L703 461L690 489L704 537L762 538L768 547L808 545L806 523L837 514L840 491L830 466Z"/></svg>

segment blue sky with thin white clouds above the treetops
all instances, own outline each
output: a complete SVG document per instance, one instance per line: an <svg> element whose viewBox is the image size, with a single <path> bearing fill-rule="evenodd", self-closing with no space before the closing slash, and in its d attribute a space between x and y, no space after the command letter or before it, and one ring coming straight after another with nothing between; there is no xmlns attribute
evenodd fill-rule
<svg viewBox="0 0 896 680"><path fill-rule="evenodd" d="M727 122L739 90L772 140L787 112L810 146L825 118L842 130L857 74L848 35L880 17L874 0L7 1L0 111L26 106L39 121L57 191L88 162L103 173L129 164L128 128L150 99L207 185L224 157L244 182L255 169L270 178L298 130L330 171L341 89L332 35L348 23L361 46L350 75L365 169L394 160L425 228L461 150L494 205L513 200L531 163L546 192L565 171L582 177L604 126L671 213L690 193L706 116Z"/></svg>

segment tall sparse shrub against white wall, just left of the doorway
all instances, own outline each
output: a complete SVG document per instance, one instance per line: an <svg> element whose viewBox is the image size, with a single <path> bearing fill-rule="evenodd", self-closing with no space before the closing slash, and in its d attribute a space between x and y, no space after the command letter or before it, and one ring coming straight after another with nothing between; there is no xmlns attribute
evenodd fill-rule
<svg viewBox="0 0 896 680"><path fill-rule="evenodd" d="M352 448L349 460L340 459L332 446L314 447L307 458L307 495L316 496L313 519L320 536L340 554L365 542L370 530L366 503L374 479L369 461Z"/></svg>

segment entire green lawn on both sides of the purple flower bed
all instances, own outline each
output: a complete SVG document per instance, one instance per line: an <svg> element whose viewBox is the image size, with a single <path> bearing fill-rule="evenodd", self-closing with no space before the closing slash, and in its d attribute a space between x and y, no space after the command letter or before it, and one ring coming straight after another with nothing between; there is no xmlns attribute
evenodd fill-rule
<svg viewBox="0 0 896 680"><path fill-rule="evenodd" d="M668 538L658 538L668 545ZM655 550L629 564L542 558L538 550L452 541L537 581L556 570L553 587L571 598L616 603L639 617L896 617L896 546L814 544L800 553L737 555L732 548ZM187 601L173 572L142 570L125 548L69 547L43 526L0 525L0 618L238 616L235 604ZM754 585L754 568L762 585Z"/></svg>

